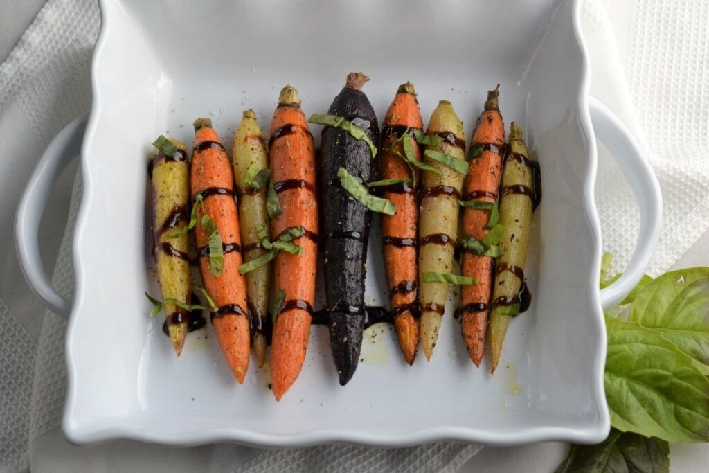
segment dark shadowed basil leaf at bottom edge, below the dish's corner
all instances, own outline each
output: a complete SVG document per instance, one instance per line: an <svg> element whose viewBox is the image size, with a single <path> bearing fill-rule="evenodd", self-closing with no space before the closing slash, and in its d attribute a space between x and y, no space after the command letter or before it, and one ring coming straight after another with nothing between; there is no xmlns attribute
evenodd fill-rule
<svg viewBox="0 0 709 473"><path fill-rule="evenodd" d="M669 472L669 445L664 440L611 429L598 445L571 445L554 473Z"/></svg>

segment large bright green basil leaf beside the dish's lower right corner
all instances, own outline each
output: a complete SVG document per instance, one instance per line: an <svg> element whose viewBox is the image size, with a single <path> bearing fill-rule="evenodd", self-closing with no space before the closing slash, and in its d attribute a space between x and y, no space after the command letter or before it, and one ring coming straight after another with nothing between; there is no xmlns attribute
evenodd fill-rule
<svg viewBox="0 0 709 473"><path fill-rule="evenodd" d="M613 426L671 443L708 441L709 380L696 362L656 330L608 317L605 325L605 396Z"/></svg>

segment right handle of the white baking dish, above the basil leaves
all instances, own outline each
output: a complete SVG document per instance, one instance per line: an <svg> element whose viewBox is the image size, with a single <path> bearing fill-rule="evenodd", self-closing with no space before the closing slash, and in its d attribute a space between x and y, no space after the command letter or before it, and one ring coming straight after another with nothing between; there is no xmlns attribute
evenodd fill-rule
<svg viewBox="0 0 709 473"><path fill-rule="evenodd" d="M591 112L596 138L601 140L615 157L640 207L640 230L630 264L623 276L601 289L601 306L607 309L617 306L630 294L649 265L660 234L662 195L652 167L642 156L640 148L623 122L593 97L588 97L588 111Z"/></svg>

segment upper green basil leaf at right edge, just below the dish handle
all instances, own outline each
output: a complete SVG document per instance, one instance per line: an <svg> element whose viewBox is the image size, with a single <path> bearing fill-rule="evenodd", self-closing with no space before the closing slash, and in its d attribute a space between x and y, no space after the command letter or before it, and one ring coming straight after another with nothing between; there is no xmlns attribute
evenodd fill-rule
<svg viewBox="0 0 709 473"><path fill-rule="evenodd" d="M709 374L709 268L679 269L645 280L628 320L657 331Z"/></svg>

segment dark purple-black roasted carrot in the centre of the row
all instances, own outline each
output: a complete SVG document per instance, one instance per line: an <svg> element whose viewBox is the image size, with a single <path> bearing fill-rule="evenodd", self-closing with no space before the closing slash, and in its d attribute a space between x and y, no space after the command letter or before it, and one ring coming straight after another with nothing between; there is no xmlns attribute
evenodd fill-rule
<svg viewBox="0 0 709 473"><path fill-rule="evenodd" d="M368 78L347 76L328 114L352 121L379 143L379 125L369 99L362 91ZM323 199L325 294L330 325L330 346L340 384L354 375L362 349L364 330L364 275L372 211L352 199L337 182L337 170L347 169L365 182L378 174L379 160L369 146L341 128L325 126L320 144L320 192Z"/></svg>

